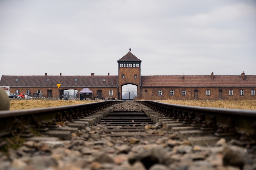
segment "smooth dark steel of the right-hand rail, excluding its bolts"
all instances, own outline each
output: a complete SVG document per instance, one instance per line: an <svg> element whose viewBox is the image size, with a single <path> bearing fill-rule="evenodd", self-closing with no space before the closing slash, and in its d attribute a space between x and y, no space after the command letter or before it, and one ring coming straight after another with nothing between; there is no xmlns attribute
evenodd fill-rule
<svg viewBox="0 0 256 170"><path fill-rule="evenodd" d="M178 104L168 104L157 101L141 101L144 105L154 109L167 116L177 112L177 115L186 113L195 113L195 118L200 119L201 115L205 116L205 121L210 122L211 116L216 117L218 125L235 126L238 131L246 131L255 133L256 127L256 110L241 110L241 109L223 109L223 108L209 108L209 107L195 107ZM176 111L175 111L176 110ZM169 112L169 113L167 113ZM171 113L170 113L171 112ZM204 117L203 116L203 117ZM170 117L170 116L169 116ZM184 117L183 117L184 118ZM232 122L230 122L232 120Z"/></svg>

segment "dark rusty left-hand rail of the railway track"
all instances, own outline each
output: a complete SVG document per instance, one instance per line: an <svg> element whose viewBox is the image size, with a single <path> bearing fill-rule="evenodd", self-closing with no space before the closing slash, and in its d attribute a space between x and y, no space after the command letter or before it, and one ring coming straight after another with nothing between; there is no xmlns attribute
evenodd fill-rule
<svg viewBox="0 0 256 170"><path fill-rule="evenodd" d="M31 122L43 122L77 115L90 115L103 108L109 107L121 101L99 101L85 104L75 104L59 107L48 107L38 109L25 109L25 110L6 110L0 111L0 136L8 135L12 130L17 131L20 127L30 125ZM40 125L39 125L40 126Z"/></svg>

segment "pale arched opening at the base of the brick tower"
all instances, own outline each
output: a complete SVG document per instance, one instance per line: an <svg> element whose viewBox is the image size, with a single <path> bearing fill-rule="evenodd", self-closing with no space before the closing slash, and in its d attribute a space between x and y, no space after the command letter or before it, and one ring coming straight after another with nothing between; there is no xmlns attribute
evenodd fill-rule
<svg viewBox="0 0 256 170"><path fill-rule="evenodd" d="M122 86L122 100L133 100L137 97L137 86L126 84Z"/></svg>

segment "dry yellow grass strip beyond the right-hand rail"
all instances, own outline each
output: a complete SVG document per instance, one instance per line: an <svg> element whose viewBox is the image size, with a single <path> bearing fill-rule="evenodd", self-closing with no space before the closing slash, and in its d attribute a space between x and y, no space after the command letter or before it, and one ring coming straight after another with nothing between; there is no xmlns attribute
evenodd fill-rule
<svg viewBox="0 0 256 170"><path fill-rule="evenodd" d="M187 106L256 110L256 100L164 100L162 102Z"/></svg>

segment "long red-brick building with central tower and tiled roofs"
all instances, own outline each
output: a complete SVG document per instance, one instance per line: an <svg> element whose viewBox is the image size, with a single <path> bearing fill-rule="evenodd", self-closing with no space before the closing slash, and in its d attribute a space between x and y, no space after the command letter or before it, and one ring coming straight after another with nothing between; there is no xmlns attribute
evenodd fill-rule
<svg viewBox="0 0 256 170"><path fill-rule="evenodd" d="M129 51L118 60L118 75L90 76L15 76L2 75L0 86L9 86L10 93L40 93L43 97L57 97L63 91L89 88L93 94L83 98L118 98L133 93L131 99L146 100L255 100L256 75L141 75L141 60ZM57 84L61 84L57 87ZM126 88L131 85L131 90ZM34 96L33 96L34 97Z"/></svg>

